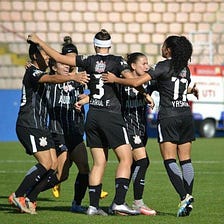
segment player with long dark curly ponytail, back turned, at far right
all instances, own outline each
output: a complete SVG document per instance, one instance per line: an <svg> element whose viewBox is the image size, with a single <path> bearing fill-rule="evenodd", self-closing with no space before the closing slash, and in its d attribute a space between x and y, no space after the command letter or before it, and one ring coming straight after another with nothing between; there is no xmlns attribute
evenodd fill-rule
<svg viewBox="0 0 224 224"><path fill-rule="evenodd" d="M116 82L137 87L151 79L157 80L160 93L158 113L158 142L169 179L180 196L177 217L186 216L192 210L194 170L191 163L191 145L195 140L194 124L187 93L197 91L189 88L191 74L188 61L192 44L184 36L169 36L163 43L162 56L154 68L137 78L122 79L105 74L104 82ZM197 95L197 94L196 94ZM180 167L176 163L179 159Z"/></svg>

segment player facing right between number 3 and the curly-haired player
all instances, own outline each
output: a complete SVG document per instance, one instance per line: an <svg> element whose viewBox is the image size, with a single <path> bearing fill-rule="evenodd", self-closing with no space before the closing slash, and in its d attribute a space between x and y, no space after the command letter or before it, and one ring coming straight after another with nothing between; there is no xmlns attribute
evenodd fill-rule
<svg viewBox="0 0 224 224"><path fill-rule="evenodd" d="M127 63L130 66L133 77L141 76L149 69L147 57L140 52L127 55ZM147 93L148 90L152 92L155 88L149 82L143 86L145 93ZM153 105L147 105L145 96L134 87L122 86L121 89L122 113L133 155L131 174L134 202L132 207L139 210L141 214L156 215L156 211L149 208L143 201L145 174L150 164L148 153L145 148L148 139L146 109L147 106L153 107Z"/></svg>

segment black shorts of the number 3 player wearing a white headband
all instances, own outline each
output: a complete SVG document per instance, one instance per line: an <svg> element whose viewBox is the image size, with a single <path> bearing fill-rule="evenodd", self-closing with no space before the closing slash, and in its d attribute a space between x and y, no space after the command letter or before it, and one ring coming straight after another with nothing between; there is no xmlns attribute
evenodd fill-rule
<svg viewBox="0 0 224 224"><path fill-rule="evenodd" d="M86 142L90 148L112 148L129 144L121 114L89 110L85 124Z"/></svg>

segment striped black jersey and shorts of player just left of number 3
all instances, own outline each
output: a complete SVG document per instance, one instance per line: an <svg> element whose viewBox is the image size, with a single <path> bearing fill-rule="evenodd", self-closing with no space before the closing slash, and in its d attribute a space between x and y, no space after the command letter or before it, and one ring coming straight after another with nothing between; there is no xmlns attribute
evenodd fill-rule
<svg viewBox="0 0 224 224"><path fill-rule="evenodd" d="M85 111L74 108L83 92L83 86L74 81L48 85L49 128L57 150L73 150L83 142Z"/></svg>

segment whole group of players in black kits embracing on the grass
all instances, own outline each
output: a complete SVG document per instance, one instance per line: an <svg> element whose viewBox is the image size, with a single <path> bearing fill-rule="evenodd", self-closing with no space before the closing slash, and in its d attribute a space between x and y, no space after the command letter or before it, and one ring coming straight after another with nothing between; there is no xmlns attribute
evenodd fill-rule
<svg viewBox="0 0 224 224"><path fill-rule="evenodd" d="M83 181L86 188L88 185L90 204L86 211L87 215L107 216L108 213L156 215L156 211L145 205L142 198L145 174L150 163L145 148L147 142L145 110L147 103L153 107L154 102L150 93L156 89L160 93L158 142L161 155L170 181L180 196L177 216L189 215L194 201L192 196L194 171L190 156L191 142L195 138L187 94L197 95L197 89L189 87L191 80L188 61L192 55L192 45L186 37L168 37L162 47L162 56L165 60L153 68L149 68L147 57L139 52L128 55L127 61L120 56L109 54L111 36L104 29L94 36L96 54L89 56L78 55L77 52L72 56L60 54L35 34L29 35L28 41L35 50L34 53L29 52L33 64L26 70L23 79L17 135L27 153L34 155L38 164L29 170L19 188L10 195L9 201L23 212L36 214L38 194L67 177L59 167L68 170L70 163L66 165L66 159L62 159L61 163L57 159L52 133L48 131L46 118L51 111L49 113L51 130L54 127L58 130L58 125L61 128L61 133L58 131L54 133L54 138L59 143L56 144L58 155L63 154L67 158L69 151L81 144L80 151L86 156L82 138L85 128L86 144L91 150L93 166L89 175L88 168L83 174L79 169L80 176L77 176L76 183ZM53 75L47 75L45 72L49 56L54 62L51 66L55 73ZM64 66L67 75L58 73L58 65ZM75 75L69 73L71 70L69 71L68 65L82 68L85 72ZM152 80L156 81L155 86L151 84ZM52 82L65 84L44 84ZM88 96L78 98L83 93L83 87L77 82L82 85L88 83L90 90ZM70 93L72 90L77 95L72 96ZM51 95L53 97L50 97ZM49 99L52 101L50 110ZM84 122L83 117L74 112L75 102L80 108L89 103L85 127L81 133L77 133L80 131L80 126L76 124L79 124L80 119L82 124ZM69 116L72 120L77 116L76 123L73 123L69 116L64 116L65 119L60 121L63 103L68 103L67 105L72 107L71 111L76 115L71 113ZM100 208L99 199L109 149L115 152L118 166L115 175L115 196L106 212ZM74 158L77 156L79 154L75 154ZM176 156L181 167L176 163ZM83 161L80 163L84 164ZM131 178L134 202L132 207L129 207L125 197ZM83 192L85 194L85 190ZM81 195L81 198L74 198L73 201L79 208L84 197Z"/></svg>

